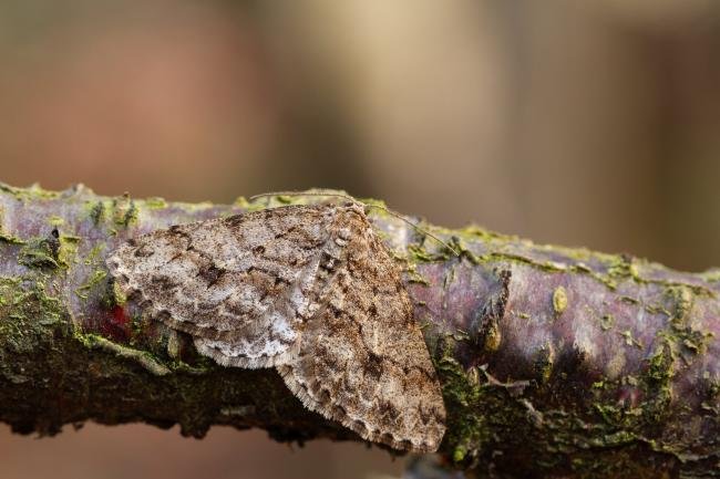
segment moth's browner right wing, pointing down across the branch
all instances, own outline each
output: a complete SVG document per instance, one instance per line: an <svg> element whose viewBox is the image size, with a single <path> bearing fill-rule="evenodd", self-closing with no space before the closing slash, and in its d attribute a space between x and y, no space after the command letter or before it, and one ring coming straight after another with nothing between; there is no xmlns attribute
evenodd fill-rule
<svg viewBox="0 0 720 479"><path fill-rule="evenodd" d="M400 269L364 215L348 208L337 220L348 239L343 259L305 324L297 358L278 371L306 407L364 439L434 451L445 408Z"/></svg>

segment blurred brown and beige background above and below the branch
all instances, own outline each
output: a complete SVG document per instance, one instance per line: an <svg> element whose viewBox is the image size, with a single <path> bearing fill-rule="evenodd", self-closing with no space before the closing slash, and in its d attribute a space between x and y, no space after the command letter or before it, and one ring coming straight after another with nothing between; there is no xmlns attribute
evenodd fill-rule
<svg viewBox="0 0 720 479"><path fill-rule="evenodd" d="M712 0L4 1L0 180L232 202L330 187L449 227L720 265ZM385 478L357 444L0 426L2 478Z"/></svg>

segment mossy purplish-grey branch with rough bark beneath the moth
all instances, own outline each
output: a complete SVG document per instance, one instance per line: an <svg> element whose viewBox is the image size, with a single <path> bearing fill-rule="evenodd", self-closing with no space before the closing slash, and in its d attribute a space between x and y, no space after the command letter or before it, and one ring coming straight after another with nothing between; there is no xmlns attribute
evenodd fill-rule
<svg viewBox="0 0 720 479"><path fill-rule="evenodd" d="M358 439L274 369L224 368L120 298L105 254L173 223L268 202L168 204L0 186L0 420L216 424ZM443 383L449 468L484 477L719 477L720 273L370 214Z"/></svg>

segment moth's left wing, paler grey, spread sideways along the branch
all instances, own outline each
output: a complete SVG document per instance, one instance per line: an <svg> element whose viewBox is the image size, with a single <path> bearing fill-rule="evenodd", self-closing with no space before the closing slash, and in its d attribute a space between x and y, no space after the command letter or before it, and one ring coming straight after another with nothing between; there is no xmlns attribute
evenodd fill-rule
<svg viewBox="0 0 720 479"><path fill-rule="evenodd" d="M194 336L200 353L241 367L281 364L317 308L315 277L332 217L290 206L174 226L107 259L127 293Z"/></svg>

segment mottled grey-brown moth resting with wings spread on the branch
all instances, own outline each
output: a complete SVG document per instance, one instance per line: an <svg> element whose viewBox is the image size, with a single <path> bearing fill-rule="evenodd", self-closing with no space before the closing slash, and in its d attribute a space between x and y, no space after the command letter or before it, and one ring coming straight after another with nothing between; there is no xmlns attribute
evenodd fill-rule
<svg viewBox="0 0 720 479"><path fill-rule="evenodd" d="M361 204L284 206L130 240L125 294L233 367L276 367L302 404L392 448L435 451L441 386L401 268Z"/></svg>

